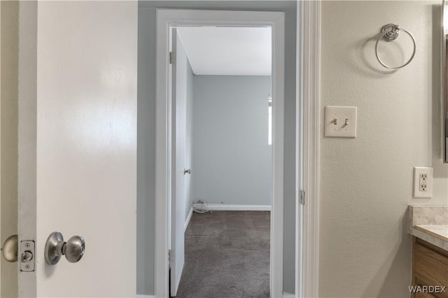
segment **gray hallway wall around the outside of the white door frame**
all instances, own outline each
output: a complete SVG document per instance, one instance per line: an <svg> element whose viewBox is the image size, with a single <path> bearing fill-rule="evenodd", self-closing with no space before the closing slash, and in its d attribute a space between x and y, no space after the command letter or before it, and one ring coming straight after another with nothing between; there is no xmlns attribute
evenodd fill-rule
<svg viewBox="0 0 448 298"><path fill-rule="evenodd" d="M285 170L283 290L294 292L296 1L139 1L137 124L137 294L154 294L156 8L283 11L285 38Z"/></svg>

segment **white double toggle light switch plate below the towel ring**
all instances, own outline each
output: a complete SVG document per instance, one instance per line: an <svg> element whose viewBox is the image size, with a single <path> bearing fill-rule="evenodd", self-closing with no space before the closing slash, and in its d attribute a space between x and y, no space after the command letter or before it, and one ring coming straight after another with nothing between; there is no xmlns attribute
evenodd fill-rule
<svg viewBox="0 0 448 298"><path fill-rule="evenodd" d="M325 106L325 137L356 138L356 106Z"/></svg>

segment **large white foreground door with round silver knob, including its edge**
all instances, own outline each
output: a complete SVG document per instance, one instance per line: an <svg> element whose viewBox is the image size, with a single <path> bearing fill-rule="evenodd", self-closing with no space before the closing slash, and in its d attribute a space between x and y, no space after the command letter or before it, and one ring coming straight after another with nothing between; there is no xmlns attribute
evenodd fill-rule
<svg viewBox="0 0 448 298"><path fill-rule="evenodd" d="M20 3L21 297L135 297L137 1ZM60 232L79 262L45 261ZM19 252L19 254L22 251Z"/></svg>

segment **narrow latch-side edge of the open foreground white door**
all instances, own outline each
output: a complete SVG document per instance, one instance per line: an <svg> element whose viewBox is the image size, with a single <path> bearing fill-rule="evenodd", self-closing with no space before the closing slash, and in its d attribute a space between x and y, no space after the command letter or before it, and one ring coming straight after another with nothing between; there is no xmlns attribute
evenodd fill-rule
<svg viewBox="0 0 448 298"><path fill-rule="evenodd" d="M22 1L19 5L19 241L36 241L37 6L37 1ZM18 296L36 297L36 274L18 273Z"/></svg>

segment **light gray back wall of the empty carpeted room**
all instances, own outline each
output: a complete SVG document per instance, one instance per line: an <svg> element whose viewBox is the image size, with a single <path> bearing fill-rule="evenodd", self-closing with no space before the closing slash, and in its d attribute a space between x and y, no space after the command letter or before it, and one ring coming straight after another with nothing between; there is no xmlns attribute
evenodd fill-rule
<svg viewBox="0 0 448 298"><path fill-rule="evenodd" d="M193 200L270 205L270 76L195 76Z"/></svg>

